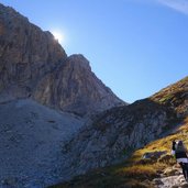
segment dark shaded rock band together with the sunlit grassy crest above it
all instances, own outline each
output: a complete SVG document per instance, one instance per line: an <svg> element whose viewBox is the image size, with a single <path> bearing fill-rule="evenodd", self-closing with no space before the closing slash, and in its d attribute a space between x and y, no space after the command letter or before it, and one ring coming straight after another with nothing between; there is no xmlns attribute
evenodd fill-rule
<svg viewBox="0 0 188 188"><path fill-rule="evenodd" d="M162 90L151 98L96 117L64 146L68 164L75 167L73 176L121 162L136 148L172 133L188 115L187 86L188 77L165 88L167 92Z"/></svg>

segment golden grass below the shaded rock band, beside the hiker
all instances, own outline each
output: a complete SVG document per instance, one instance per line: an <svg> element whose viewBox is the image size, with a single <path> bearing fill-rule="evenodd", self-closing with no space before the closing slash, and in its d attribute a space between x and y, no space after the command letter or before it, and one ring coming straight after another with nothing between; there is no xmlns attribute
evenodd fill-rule
<svg viewBox="0 0 188 188"><path fill-rule="evenodd" d="M153 179L164 176L174 175L178 165L174 156L170 155L172 141L183 140L188 146L188 118L175 133L167 137L151 142L145 147L137 150L124 163L106 168L99 168L87 175L77 176L73 180L51 188L152 188ZM144 154L164 152L161 156L143 158ZM173 166L175 168L173 168Z"/></svg>

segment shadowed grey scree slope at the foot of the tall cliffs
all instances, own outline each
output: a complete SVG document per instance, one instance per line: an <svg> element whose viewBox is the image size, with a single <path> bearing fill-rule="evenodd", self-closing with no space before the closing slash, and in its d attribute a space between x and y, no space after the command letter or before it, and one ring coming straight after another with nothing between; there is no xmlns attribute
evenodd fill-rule
<svg viewBox="0 0 188 188"><path fill-rule="evenodd" d="M62 145L82 124L32 100L0 103L0 187L42 188L62 180Z"/></svg>

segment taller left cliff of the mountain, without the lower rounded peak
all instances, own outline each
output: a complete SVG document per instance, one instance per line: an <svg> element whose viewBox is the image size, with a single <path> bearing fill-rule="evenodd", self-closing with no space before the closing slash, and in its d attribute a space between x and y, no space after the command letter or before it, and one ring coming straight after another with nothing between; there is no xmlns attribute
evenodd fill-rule
<svg viewBox="0 0 188 188"><path fill-rule="evenodd" d="M49 32L0 4L0 91L27 95L40 77L67 56ZM21 91L22 90L22 91Z"/></svg>

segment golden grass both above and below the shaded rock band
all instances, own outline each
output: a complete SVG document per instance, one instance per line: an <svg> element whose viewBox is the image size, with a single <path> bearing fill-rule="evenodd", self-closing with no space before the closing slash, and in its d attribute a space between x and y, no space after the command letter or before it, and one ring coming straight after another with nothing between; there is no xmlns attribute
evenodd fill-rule
<svg viewBox="0 0 188 188"><path fill-rule="evenodd" d="M177 114L186 112L185 101L187 99L188 77L167 87L152 96L150 99L164 104L173 106ZM170 130L172 131L172 130ZM153 187L152 180L164 174L173 175L170 168L176 164L170 155L172 141L183 140L188 146L188 118L184 117L183 124L174 133L166 137L151 142L145 147L137 150L133 155L119 165L92 170L84 176L77 176L73 180L53 186L52 188L115 188L115 187ZM148 152L166 151L159 158L143 159L142 156ZM167 170L168 169L168 170Z"/></svg>

